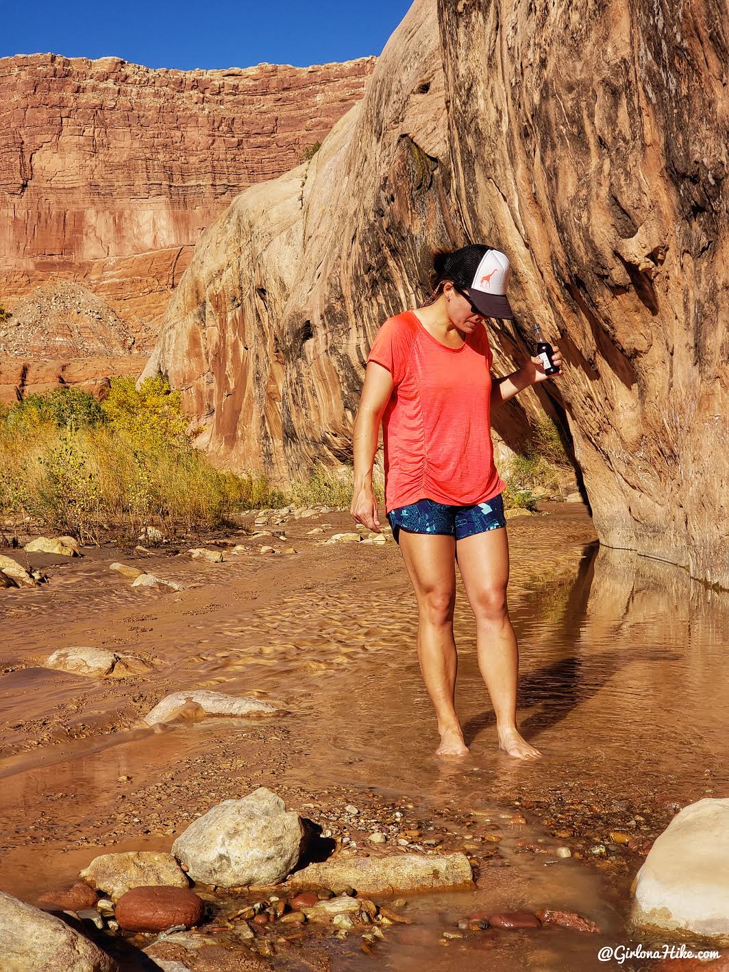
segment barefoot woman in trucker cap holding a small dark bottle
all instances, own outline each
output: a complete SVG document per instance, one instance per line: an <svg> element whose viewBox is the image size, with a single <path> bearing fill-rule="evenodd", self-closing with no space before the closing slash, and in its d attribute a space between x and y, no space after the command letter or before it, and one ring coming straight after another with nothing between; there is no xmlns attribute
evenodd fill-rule
<svg viewBox="0 0 729 972"><path fill-rule="evenodd" d="M516 728L519 656L506 606L505 484L494 465L490 411L546 375L541 360L531 358L492 380L484 318L513 317L508 274L504 254L488 246L438 255L431 300L389 318L375 335L354 427L350 512L379 533L372 466L383 422L385 508L418 603L418 659L441 756L469 751L455 709L455 561L476 621L478 666L499 746L521 759L540 755ZM552 358L561 367L556 347Z"/></svg>

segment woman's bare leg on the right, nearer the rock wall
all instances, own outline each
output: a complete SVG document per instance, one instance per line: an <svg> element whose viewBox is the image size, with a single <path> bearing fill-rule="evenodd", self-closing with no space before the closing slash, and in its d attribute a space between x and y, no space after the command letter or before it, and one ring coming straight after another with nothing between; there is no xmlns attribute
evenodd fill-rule
<svg viewBox="0 0 729 972"><path fill-rule="evenodd" d="M541 753L516 728L519 651L506 604L508 538L502 527L456 541L456 559L476 620L478 668L496 712L499 746L510 756Z"/></svg>

